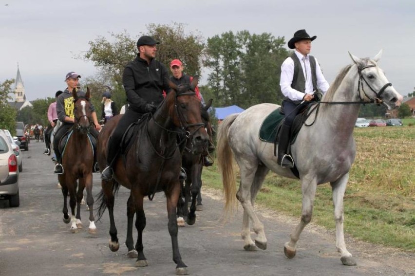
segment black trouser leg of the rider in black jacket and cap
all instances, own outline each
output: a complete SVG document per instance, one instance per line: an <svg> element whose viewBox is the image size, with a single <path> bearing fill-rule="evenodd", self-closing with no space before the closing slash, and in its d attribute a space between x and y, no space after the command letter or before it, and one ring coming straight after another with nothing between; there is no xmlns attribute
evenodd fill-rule
<svg viewBox="0 0 415 276"><path fill-rule="evenodd" d="M132 109L125 111L124 115L119 120L117 126L114 129L113 134L108 141L107 149L107 164L112 165L113 160L118 155L118 150L120 148L122 136L128 127L141 118L144 114L136 112Z"/></svg>

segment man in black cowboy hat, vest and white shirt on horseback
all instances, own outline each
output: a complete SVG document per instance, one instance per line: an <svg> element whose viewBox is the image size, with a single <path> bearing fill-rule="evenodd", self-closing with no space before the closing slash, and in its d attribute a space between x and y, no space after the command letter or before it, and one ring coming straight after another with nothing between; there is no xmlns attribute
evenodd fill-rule
<svg viewBox="0 0 415 276"><path fill-rule="evenodd" d="M317 37L310 37L305 30L298 30L294 37L288 41L288 48L295 49L281 65L280 86L283 92L283 110L285 119L281 129L278 145L278 164L284 168L294 166L292 157L287 154L287 146L291 125L295 116L302 107L311 101L318 100L314 93L320 90L327 92L329 84L324 78L319 62L309 55L311 41Z"/></svg>

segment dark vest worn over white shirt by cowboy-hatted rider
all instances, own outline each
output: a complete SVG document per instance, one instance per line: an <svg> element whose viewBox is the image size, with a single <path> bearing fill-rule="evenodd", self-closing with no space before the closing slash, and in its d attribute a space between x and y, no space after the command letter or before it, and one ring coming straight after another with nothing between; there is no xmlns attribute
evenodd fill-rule
<svg viewBox="0 0 415 276"><path fill-rule="evenodd" d="M316 60L314 59L314 56L312 55L309 55L308 57L310 59L311 81L313 83L313 90L317 91ZM305 76L304 76L304 73L302 72L301 60L298 58L298 56L295 53L291 55L291 58L294 61L294 74L293 74L293 82L291 83L291 88L297 91L300 91L300 92L305 92ZM287 97L284 97L284 100L288 100L296 104L299 104L302 102L302 100L293 101Z"/></svg>

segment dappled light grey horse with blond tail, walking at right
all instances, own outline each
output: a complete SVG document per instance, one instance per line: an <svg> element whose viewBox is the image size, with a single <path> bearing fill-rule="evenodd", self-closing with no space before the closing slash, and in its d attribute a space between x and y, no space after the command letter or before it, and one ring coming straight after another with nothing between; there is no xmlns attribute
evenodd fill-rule
<svg viewBox="0 0 415 276"><path fill-rule="evenodd" d="M344 265L356 265L346 248L343 233L343 197L349 170L356 156L353 130L360 104L381 102L388 109L400 106L402 96L377 66L379 52L374 59L358 58L350 54L353 63L337 75L321 103L314 106L300 129L291 153L300 174L302 187L302 215L284 245L287 258L294 258L297 242L304 227L311 221L313 202L318 184L330 183L333 191L336 247ZM259 104L240 114L226 117L218 131L218 164L222 170L226 209L235 207L236 200L244 208L242 238L244 249L266 249L264 225L253 204L269 170L289 178L296 178L289 168L282 168L274 156L274 144L262 141L259 130L264 119L279 106ZM319 108L319 109L317 109ZM318 112L320 110L320 112ZM277 151L278 152L278 151ZM236 192L233 156L240 168L241 181ZM257 234L251 238L250 221Z"/></svg>

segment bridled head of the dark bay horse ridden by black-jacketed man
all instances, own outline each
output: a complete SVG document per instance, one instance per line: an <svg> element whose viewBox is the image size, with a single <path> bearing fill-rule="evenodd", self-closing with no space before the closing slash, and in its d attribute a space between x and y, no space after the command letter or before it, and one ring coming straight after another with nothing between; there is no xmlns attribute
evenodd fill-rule
<svg viewBox="0 0 415 276"><path fill-rule="evenodd" d="M201 116L201 104L194 92L198 79L193 78L190 85L176 86L169 81L169 86L175 94L174 106L170 108L173 124L186 132L191 139L191 152L201 154L207 147L209 136ZM170 92L171 93L171 92Z"/></svg>

